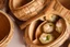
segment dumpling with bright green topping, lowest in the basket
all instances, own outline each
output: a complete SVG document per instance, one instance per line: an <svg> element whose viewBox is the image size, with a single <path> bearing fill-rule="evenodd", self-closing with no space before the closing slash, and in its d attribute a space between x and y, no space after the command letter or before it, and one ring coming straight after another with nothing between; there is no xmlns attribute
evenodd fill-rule
<svg viewBox="0 0 70 47"><path fill-rule="evenodd" d="M51 34L43 33L39 37L39 42L42 44L48 44L54 40L54 36Z"/></svg>

